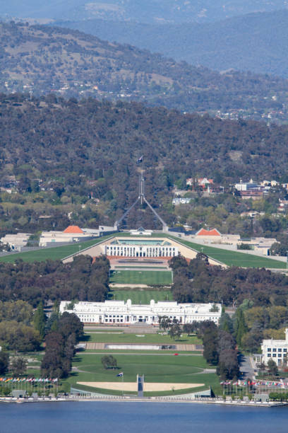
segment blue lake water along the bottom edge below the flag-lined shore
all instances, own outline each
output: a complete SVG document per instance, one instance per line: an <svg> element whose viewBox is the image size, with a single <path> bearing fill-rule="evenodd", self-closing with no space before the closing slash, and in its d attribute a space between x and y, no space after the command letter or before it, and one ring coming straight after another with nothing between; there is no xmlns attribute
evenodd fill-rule
<svg viewBox="0 0 288 433"><path fill-rule="evenodd" d="M0 433L287 433L288 407L185 403L0 403Z"/></svg>

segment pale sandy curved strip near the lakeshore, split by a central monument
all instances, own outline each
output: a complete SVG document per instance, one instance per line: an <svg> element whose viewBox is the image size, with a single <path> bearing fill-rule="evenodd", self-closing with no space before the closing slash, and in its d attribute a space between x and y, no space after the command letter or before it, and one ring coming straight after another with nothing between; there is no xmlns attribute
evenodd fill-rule
<svg viewBox="0 0 288 433"><path fill-rule="evenodd" d="M121 380L121 379L120 379ZM115 389L117 391L137 391L136 382L77 382L79 385L94 388ZM148 383L144 382L144 391L172 391L172 389L187 389L204 386L204 383Z"/></svg>

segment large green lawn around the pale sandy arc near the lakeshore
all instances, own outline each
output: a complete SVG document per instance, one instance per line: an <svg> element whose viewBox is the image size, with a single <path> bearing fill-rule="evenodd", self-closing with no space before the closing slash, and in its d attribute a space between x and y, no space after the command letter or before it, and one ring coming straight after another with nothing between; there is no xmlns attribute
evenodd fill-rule
<svg viewBox="0 0 288 433"><path fill-rule="evenodd" d="M77 384L78 381L90 382L121 382L117 378L119 371L124 372L124 382L136 381L137 374L144 374L146 382L160 383L204 383L203 388L213 386L219 387L219 381L216 374L203 374L202 369L210 368L203 357L198 356L181 356L165 354L158 356L145 355L115 355L118 370L105 370L101 364L102 354L77 354L73 359L73 366L79 371L73 371L73 375L67 379L67 382L75 388L83 388ZM90 388L91 390L93 388ZM96 389L94 390L96 391ZM107 391L104 391L107 393ZM186 391L188 392L188 391ZM161 393L163 394L163 393Z"/></svg>

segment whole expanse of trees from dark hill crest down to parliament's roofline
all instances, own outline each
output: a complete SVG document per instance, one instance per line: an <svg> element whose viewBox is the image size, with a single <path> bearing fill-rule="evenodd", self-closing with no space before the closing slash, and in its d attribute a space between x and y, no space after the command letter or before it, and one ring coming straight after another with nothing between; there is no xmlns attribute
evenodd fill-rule
<svg viewBox="0 0 288 433"><path fill-rule="evenodd" d="M1 195L0 221L6 229L112 224L137 197L141 154L145 193L169 225L188 221L198 229L205 221L229 232L247 232L250 222L234 215L252 204L239 203L229 184L252 176L287 180L287 126L54 95L32 100L2 95L0 114L1 184L10 185L14 177L18 191ZM222 183L227 193L194 195L190 205L173 209L173 185L185 187L186 178L203 175ZM286 197L281 188L253 206L273 213L280 197ZM124 224L157 227L145 206L132 209ZM265 216L256 221L255 231L270 236L286 225L284 217Z"/></svg>

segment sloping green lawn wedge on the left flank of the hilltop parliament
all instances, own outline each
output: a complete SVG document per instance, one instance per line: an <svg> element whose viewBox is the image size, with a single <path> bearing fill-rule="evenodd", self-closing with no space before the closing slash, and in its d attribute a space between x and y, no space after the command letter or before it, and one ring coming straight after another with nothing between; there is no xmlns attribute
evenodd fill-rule
<svg viewBox="0 0 288 433"><path fill-rule="evenodd" d="M43 248L42 250L33 250L27 251L25 253L4 255L4 257L0 258L0 262L13 263L19 259L22 259L24 262L43 262L47 259L62 260L68 257L68 255L78 253L79 248L80 250L83 250L90 246L96 245L97 243L104 241L104 239L107 239L110 236L111 235L102 236L101 238L95 238L92 241L73 243L71 245L65 245L60 247Z"/></svg>

